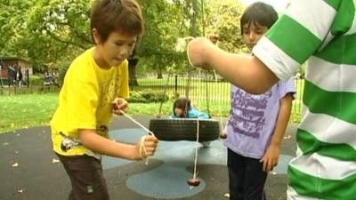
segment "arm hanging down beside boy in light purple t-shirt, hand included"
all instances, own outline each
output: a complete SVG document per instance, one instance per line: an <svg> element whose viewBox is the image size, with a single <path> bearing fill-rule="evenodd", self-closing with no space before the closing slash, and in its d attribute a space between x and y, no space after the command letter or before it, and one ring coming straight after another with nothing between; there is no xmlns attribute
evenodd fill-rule
<svg viewBox="0 0 356 200"><path fill-rule="evenodd" d="M292 108L293 94L287 93L286 96L281 99L279 116L274 128L271 144L267 147L261 162L263 162L263 171L270 172L277 164L279 164L280 145L283 140L284 133L287 129L289 122L289 116Z"/></svg>

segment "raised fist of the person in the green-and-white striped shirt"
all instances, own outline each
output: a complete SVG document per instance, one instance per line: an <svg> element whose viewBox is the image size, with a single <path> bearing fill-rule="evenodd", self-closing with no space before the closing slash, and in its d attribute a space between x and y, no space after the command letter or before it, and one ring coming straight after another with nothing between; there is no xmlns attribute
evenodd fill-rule
<svg viewBox="0 0 356 200"><path fill-rule="evenodd" d="M190 41L188 44L188 60L194 67L213 69L206 63L206 51L210 48L214 48L214 44L205 37L197 37Z"/></svg>

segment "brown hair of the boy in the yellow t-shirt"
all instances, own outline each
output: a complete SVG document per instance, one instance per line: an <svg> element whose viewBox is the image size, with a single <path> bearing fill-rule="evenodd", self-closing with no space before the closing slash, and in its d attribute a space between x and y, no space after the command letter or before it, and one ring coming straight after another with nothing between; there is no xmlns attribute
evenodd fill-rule
<svg viewBox="0 0 356 200"><path fill-rule="evenodd" d="M134 0L96 0L90 28L98 30L101 42L106 42L114 31L128 36L142 36L144 27L141 7Z"/></svg>

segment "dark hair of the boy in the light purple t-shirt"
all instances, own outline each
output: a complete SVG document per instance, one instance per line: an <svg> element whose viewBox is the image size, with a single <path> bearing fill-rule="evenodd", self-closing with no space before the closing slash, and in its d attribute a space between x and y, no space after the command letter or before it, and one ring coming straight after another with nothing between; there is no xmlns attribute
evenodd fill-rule
<svg viewBox="0 0 356 200"><path fill-rule="evenodd" d="M239 20L241 34L244 33L243 27L245 24L248 24L249 27L251 23L254 23L256 26L257 22L260 26L270 29L274 22L278 20L278 18L278 13L270 4L264 4L263 2L250 4Z"/></svg>

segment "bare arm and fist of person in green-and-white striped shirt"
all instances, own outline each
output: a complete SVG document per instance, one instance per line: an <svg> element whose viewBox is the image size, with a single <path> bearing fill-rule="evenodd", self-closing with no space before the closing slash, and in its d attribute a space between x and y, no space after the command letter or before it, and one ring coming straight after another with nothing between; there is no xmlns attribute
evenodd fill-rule
<svg viewBox="0 0 356 200"><path fill-rule="evenodd" d="M259 94L267 92L279 79L255 56L225 52L204 37L192 40L188 58L193 66L215 69L218 74L243 90Z"/></svg>

